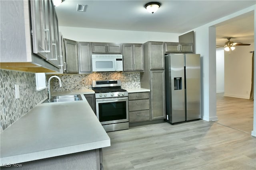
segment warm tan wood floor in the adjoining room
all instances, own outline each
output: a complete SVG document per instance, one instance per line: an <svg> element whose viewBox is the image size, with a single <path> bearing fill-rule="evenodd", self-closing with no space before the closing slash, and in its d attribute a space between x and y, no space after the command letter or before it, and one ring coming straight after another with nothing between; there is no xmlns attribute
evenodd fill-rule
<svg viewBox="0 0 256 170"><path fill-rule="evenodd" d="M222 125L247 133L253 130L253 100L231 98L217 93L217 116Z"/></svg>

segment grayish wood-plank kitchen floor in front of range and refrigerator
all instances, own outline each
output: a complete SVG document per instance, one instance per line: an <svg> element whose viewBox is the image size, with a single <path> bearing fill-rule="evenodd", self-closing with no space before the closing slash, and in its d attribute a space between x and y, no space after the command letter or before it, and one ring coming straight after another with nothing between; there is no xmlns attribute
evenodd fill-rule
<svg viewBox="0 0 256 170"><path fill-rule="evenodd" d="M204 120L108 133L104 170L256 170L256 138Z"/></svg>

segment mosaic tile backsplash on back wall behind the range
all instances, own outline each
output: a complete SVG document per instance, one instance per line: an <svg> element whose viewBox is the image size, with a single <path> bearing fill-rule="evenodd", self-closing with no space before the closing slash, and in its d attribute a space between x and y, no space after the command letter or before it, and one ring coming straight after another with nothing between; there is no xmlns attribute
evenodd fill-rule
<svg viewBox="0 0 256 170"><path fill-rule="evenodd" d="M47 79L52 75L47 75ZM74 91L92 89L92 80L121 80L121 88L140 88L139 72L93 72L92 74L58 74L62 80L59 87L57 78L52 79L54 83L53 92Z"/></svg>

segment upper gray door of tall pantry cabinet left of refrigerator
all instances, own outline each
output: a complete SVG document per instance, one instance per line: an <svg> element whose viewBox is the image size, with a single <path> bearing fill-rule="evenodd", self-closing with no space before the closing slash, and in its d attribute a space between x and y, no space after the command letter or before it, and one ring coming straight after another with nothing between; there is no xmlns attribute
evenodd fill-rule
<svg viewBox="0 0 256 170"><path fill-rule="evenodd" d="M164 69L164 43L149 42L150 70Z"/></svg>

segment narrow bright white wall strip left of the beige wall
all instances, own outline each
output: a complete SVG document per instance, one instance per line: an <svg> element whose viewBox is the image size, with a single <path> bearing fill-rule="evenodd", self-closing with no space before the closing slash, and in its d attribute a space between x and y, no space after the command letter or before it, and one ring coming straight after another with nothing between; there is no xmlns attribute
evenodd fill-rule
<svg viewBox="0 0 256 170"><path fill-rule="evenodd" d="M224 92L224 50L216 50L216 92Z"/></svg>

